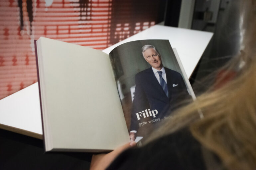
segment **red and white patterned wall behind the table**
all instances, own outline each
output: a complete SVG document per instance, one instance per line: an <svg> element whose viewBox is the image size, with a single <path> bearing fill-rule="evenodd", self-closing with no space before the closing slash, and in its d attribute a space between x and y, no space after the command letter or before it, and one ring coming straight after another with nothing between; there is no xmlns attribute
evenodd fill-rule
<svg viewBox="0 0 256 170"><path fill-rule="evenodd" d="M37 82L34 39L40 36L104 49L157 22L147 13L159 3L133 18L135 1L121 2L0 0L0 99Z"/></svg>

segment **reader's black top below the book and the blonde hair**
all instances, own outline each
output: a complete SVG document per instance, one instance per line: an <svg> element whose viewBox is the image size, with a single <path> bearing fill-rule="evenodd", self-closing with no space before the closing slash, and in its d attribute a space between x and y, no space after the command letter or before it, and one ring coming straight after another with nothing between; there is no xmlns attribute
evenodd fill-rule
<svg viewBox="0 0 256 170"><path fill-rule="evenodd" d="M125 150L107 168L129 170L206 170L201 144L188 129Z"/></svg>

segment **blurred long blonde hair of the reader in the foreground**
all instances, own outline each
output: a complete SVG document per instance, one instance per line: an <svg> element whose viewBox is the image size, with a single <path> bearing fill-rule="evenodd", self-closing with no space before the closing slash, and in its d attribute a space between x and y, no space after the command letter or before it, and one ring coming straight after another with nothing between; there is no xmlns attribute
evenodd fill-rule
<svg viewBox="0 0 256 170"><path fill-rule="evenodd" d="M236 71L233 80L215 85L177 110L157 133L189 126L192 135L213 151L229 170L256 169L256 1L241 5L241 51L223 69ZM223 74L216 84L221 84ZM199 119L198 110L204 115Z"/></svg>

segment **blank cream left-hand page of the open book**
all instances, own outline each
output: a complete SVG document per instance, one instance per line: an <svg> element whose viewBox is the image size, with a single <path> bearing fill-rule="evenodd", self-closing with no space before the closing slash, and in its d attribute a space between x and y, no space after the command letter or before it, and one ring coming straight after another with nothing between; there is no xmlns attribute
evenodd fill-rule
<svg viewBox="0 0 256 170"><path fill-rule="evenodd" d="M129 142L107 54L37 41L46 150L102 151Z"/></svg>

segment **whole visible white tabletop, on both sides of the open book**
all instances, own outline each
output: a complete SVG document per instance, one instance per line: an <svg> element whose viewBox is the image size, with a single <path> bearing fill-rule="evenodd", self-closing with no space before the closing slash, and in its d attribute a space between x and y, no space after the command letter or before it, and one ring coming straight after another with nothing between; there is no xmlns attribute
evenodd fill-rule
<svg viewBox="0 0 256 170"><path fill-rule="evenodd" d="M134 40L169 39L190 77L212 35L211 32L156 25L106 48L103 52L108 54L116 46ZM43 134L38 83L0 100L0 123Z"/></svg>

